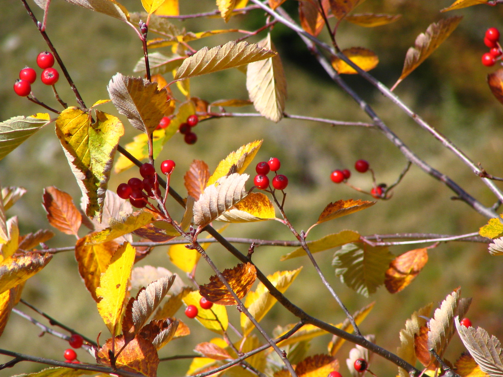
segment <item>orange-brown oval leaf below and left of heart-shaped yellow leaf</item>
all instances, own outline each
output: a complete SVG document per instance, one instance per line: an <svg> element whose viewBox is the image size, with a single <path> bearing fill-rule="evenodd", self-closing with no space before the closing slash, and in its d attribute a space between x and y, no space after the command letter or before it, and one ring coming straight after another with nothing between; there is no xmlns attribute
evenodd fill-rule
<svg viewBox="0 0 503 377"><path fill-rule="evenodd" d="M49 224L63 233L77 235L82 215L68 194L54 186L46 187L42 205L47 212Z"/></svg>

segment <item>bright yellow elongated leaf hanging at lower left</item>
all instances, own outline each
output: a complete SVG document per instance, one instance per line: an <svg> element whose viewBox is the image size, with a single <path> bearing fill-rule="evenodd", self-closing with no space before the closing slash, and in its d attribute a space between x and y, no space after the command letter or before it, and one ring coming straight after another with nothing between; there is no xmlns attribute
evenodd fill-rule
<svg viewBox="0 0 503 377"><path fill-rule="evenodd" d="M120 246L110 260L106 271L101 275L100 287L96 296L98 312L112 334L119 334L126 299L127 283L133 268L136 249L128 242Z"/></svg>

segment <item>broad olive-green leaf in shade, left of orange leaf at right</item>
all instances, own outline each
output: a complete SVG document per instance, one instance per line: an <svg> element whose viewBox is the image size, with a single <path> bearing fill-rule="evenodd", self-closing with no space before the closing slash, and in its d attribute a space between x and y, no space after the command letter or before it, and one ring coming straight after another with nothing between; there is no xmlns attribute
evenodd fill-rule
<svg viewBox="0 0 503 377"><path fill-rule="evenodd" d="M369 297L384 283L384 273L393 257L386 246L349 243L336 251L332 266L344 284Z"/></svg>

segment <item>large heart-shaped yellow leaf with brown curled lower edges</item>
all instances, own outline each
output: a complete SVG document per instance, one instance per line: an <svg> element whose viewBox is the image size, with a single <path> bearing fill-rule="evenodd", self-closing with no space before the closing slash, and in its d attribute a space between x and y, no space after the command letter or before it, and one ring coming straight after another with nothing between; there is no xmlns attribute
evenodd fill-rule
<svg viewBox="0 0 503 377"><path fill-rule="evenodd" d="M124 126L118 118L101 111L96 111L96 121L91 123L90 114L70 107L57 118L56 135L82 192L86 214L100 221Z"/></svg>

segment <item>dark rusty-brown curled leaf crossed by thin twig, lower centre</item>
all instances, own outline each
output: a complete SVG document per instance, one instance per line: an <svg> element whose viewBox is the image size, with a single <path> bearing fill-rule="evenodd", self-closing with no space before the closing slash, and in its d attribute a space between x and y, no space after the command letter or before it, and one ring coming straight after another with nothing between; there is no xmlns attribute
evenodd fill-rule
<svg viewBox="0 0 503 377"><path fill-rule="evenodd" d="M232 290L236 293L239 299L242 299L257 278L257 270L251 263L239 263L232 269L225 269L222 272L229 283ZM210 282L204 286L199 286L199 293L206 300L219 305L236 305L236 301L232 297L227 288L224 286L220 279L213 275L210 277Z"/></svg>

